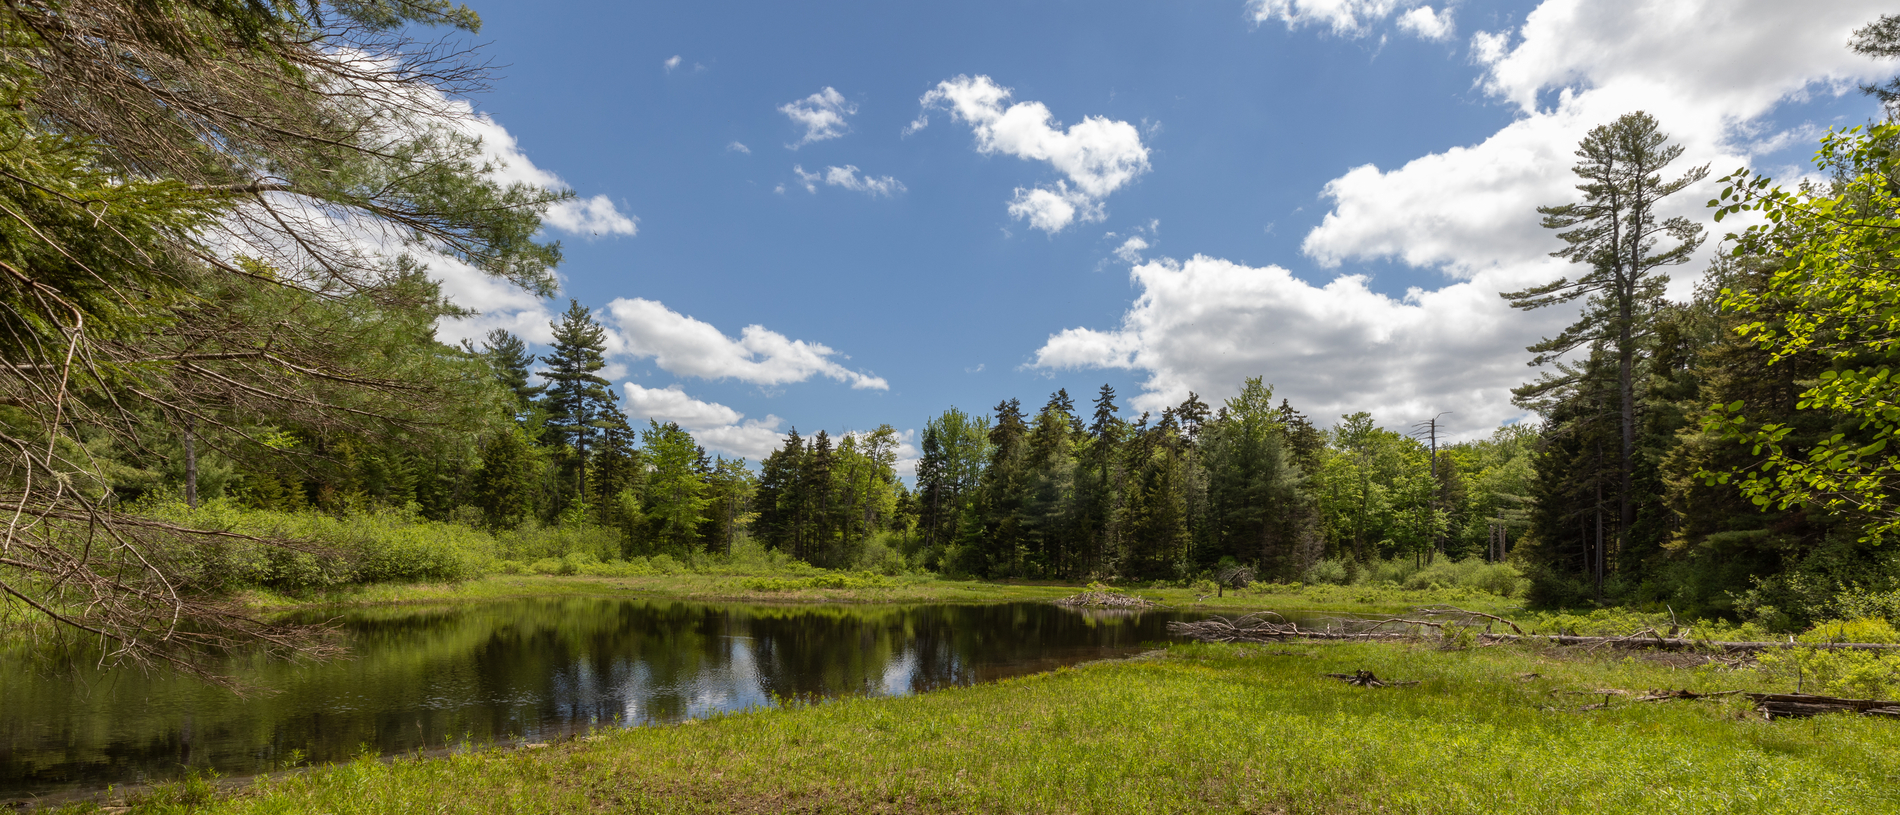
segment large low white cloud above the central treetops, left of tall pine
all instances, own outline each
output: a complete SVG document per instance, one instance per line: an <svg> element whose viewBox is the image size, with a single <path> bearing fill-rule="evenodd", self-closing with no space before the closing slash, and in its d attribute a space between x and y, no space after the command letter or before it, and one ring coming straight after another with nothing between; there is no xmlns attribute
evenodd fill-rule
<svg viewBox="0 0 1900 815"><path fill-rule="evenodd" d="M1554 264L1554 262L1552 262ZM1391 298L1343 275L1315 287L1279 266L1193 256L1130 272L1140 289L1117 329L1068 329L1036 351L1039 369L1146 370L1130 403L1161 410L1197 391L1210 405L1264 376L1319 426L1370 410L1387 426L1455 410L1471 433L1522 412L1520 351L1566 321L1558 310L1514 312L1497 293L1524 274L1486 272L1438 291Z"/></svg>

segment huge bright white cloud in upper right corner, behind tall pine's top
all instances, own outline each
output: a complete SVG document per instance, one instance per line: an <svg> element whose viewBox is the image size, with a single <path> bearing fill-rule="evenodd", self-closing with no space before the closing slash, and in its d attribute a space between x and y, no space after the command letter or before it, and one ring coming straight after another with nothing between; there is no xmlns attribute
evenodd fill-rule
<svg viewBox="0 0 1900 815"><path fill-rule="evenodd" d="M1727 173L1784 142L1761 122L1782 101L1851 91L1890 70L1845 46L1881 9L1877 2L1548 0L1514 36L1472 38L1486 66L1482 87L1516 104L1518 120L1478 144L1334 179L1324 188L1332 211L1303 249L1324 266L1398 258L1455 277L1539 262L1554 239L1535 207L1577 196L1571 152L1590 127L1647 110L1685 148L1672 173L1700 163ZM1664 215L1704 218L1700 192L1676 196Z"/></svg>

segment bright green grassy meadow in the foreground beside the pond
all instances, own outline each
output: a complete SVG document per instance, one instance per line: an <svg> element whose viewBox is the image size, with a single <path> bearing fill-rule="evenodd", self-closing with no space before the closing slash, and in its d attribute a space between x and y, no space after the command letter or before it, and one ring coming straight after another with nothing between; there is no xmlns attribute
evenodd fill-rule
<svg viewBox="0 0 1900 815"><path fill-rule="evenodd" d="M1328 673L1416 684L1360 688ZM1900 722L1767 722L1720 663L1579 650L1180 644L910 697L528 749L361 758L133 813L1889 813ZM86 811L91 804L76 806Z"/></svg>

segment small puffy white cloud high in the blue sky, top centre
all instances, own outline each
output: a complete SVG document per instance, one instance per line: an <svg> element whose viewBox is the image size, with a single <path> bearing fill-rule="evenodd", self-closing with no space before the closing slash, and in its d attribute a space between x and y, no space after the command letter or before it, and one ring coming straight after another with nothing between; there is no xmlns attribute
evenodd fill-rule
<svg viewBox="0 0 1900 815"><path fill-rule="evenodd" d="M1053 188L1016 188L1009 213L1045 232L1060 232L1075 218L1102 220L1102 199L1148 173L1148 146L1127 123L1087 116L1062 129L1043 103L1009 103L1011 91L988 76L956 76L939 82L920 99L925 110L946 108L977 135L977 150L1049 161L1066 180ZM925 118L908 131L922 129Z"/></svg>

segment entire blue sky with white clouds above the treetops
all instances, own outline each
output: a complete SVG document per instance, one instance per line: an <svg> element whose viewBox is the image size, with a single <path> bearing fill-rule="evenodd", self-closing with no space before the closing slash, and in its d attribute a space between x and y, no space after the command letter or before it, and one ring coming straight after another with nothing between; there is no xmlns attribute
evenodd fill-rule
<svg viewBox="0 0 1900 815"><path fill-rule="evenodd" d="M1533 209L1583 131L1645 108L1683 167L1788 173L1873 116L1852 84L1892 66L1845 40L1883 9L1803 6L481 2L484 133L580 203L562 300L445 274L483 315L443 334L545 340L578 298L635 418L754 460L1244 376L1322 426L1484 435L1566 323L1495 293L1562 274Z"/></svg>

